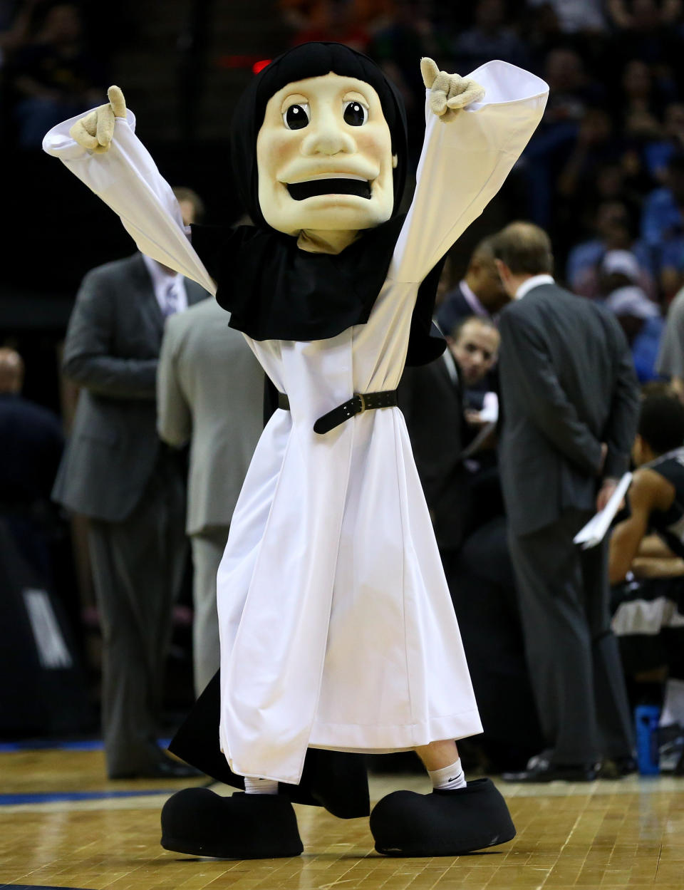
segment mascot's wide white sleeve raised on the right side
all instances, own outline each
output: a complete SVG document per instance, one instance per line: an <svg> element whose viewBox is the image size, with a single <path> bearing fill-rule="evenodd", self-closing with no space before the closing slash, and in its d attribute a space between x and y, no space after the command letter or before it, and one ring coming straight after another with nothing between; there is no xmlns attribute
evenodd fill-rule
<svg viewBox="0 0 684 890"><path fill-rule="evenodd" d="M414 199L388 278L422 281L494 198L542 119L549 87L534 74L490 61L468 77L485 98L453 120L426 103Z"/></svg>

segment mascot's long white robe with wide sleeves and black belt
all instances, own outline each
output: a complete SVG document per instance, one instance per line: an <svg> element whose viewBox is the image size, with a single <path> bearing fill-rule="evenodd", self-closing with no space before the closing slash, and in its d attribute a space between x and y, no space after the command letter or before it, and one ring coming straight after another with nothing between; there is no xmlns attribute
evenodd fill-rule
<svg viewBox="0 0 684 890"><path fill-rule="evenodd" d="M419 284L542 117L538 77L501 61L471 77L484 101L449 123L426 109L414 200L367 323L310 343L247 338L291 410L262 434L218 574L221 748L235 773L296 783L307 747L395 751L482 731L403 415L371 410L313 431L354 392L397 388ZM213 292L133 115L103 155L70 140L75 119L45 150L143 253Z"/></svg>

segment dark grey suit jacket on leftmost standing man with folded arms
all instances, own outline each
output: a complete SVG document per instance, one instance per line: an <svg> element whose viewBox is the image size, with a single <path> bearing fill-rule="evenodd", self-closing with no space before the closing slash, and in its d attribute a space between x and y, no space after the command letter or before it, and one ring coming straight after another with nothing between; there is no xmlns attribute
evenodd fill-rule
<svg viewBox="0 0 684 890"><path fill-rule="evenodd" d="M188 304L207 295L186 279ZM157 359L162 315L141 254L85 275L68 322L62 372L82 387L52 498L122 522L157 459Z"/></svg>

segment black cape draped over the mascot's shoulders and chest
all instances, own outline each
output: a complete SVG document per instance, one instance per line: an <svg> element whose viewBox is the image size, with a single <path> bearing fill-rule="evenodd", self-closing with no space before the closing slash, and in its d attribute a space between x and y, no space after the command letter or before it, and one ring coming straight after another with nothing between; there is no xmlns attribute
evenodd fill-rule
<svg viewBox="0 0 684 890"><path fill-rule="evenodd" d="M216 282L229 327L253 340L326 340L366 324L380 294L403 216L369 229L341 254L310 254L294 237L253 226L192 227L192 246ZM407 365L426 365L446 343L432 324L444 260L422 281Z"/></svg>

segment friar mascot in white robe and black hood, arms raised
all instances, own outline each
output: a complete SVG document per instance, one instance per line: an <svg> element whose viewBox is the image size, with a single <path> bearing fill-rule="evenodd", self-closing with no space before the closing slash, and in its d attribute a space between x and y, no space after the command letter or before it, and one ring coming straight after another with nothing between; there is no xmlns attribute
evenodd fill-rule
<svg viewBox="0 0 684 890"><path fill-rule="evenodd" d="M421 67L425 142L405 216L402 102L341 44L284 53L237 105L232 159L253 226L183 227L117 87L44 139L142 253L216 295L275 387L218 574L221 671L172 746L245 793L171 797L167 849L300 854L293 801L367 815L358 754L407 749L433 791L375 805L380 853L456 855L515 834L495 786L466 784L460 767L454 740L481 726L396 390L407 361L444 349L431 330L440 263L519 158L548 87L501 61L468 78Z"/></svg>

